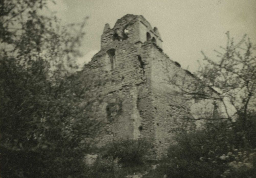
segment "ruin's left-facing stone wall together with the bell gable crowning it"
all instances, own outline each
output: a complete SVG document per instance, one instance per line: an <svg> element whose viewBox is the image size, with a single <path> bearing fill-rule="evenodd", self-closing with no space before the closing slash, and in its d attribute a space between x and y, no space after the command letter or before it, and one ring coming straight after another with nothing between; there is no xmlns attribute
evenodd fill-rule
<svg viewBox="0 0 256 178"><path fill-rule="evenodd" d="M155 142L148 55L151 48L141 47L147 32L151 33L151 39L155 36L161 42L157 28L152 29L142 16L126 15L113 29L106 24L101 50L82 71L81 80L84 83L90 80L88 92L95 95L90 110L104 125L98 134L102 145L115 136L142 137L152 145ZM152 154L156 151L152 146Z"/></svg>

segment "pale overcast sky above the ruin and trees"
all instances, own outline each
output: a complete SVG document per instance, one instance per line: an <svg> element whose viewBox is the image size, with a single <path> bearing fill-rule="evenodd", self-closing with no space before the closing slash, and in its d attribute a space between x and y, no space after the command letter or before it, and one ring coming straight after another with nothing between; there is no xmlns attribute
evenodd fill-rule
<svg viewBox="0 0 256 178"><path fill-rule="evenodd" d="M143 15L159 30L163 52L183 68L194 72L201 50L215 56L214 49L225 46L225 33L239 40L244 34L256 43L255 0L56 0L52 10L63 23L78 22L85 16L86 36L82 46L84 57L79 63L89 62L100 50L100 36L105 23L113 28L117 19L129 14Z"/></svg>

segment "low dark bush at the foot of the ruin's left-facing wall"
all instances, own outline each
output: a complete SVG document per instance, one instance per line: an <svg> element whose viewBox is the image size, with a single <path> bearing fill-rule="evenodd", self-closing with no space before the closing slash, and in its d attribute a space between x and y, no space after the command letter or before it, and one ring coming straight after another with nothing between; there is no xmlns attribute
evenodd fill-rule
<svg viewBox="0 0 256 178"><path fill-rule="evenodd" d="M116 139L99 149L96 161L89 166L88 177L125 177L146 171L148 142L144 139ZM95 150L94 150L95 151Z"/></svg>

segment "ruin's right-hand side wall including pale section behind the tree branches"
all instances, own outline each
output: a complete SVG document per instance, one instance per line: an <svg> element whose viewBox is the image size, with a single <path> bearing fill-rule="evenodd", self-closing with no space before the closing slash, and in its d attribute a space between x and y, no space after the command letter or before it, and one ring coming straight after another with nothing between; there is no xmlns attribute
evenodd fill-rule
<svg viewBox="0 0 256 178"><path fill-rule="evenodd" d="M193 74L180 67L179 63L172 61L165 53L159 50L154 44L152 46L152 69L151 88L152 104L154 106L154 121L156 126L156 147L157 153L165 153L170 143L174 143L175 135L180 131L193 130L200 125L199 121L193 120L199 117L214 118L217 116L215 104L220 102L209 99L190 99L180 93L180 89L173 84L172 79L190 85L197 80ZM213 92L218 98L216 91ZM192 97L189 95L189 98ZM215 103L215 104L214 104ZM204 120L200 121L204 122Z"/></svg>

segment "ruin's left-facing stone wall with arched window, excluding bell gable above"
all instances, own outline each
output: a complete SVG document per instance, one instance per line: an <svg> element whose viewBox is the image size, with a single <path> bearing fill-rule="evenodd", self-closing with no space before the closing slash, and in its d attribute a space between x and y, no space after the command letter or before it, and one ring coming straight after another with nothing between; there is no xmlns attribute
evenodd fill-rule
<svg viewBox="0 0 256 178"><path fill-rule="evenodd" d="M115 49L116 66L109 68L108 50ZM129 41L113 41L102 48L80 74L87 92L92 92L90 111L102 123L95 142L104 145L114 136L154 138L148 54L140 53ZM89 82L88 82L89 81ZM85 101L85 105L86 105Z"/></svg>

